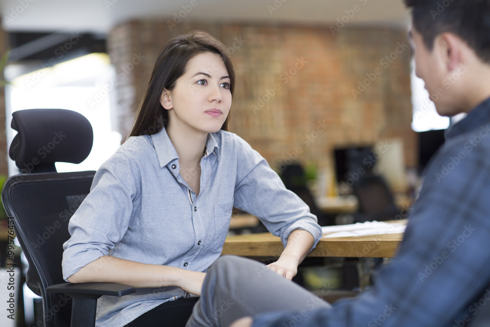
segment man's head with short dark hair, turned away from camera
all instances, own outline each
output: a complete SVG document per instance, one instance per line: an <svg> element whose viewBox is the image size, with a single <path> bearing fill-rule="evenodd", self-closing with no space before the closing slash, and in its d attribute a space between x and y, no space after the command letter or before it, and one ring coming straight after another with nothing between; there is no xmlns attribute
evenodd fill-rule
<svg viewBox="0 0 490 327"><path fill-rule="evenodd" d="M417 75L441 115L490 97L490 0L404 0L412 8Z"/></svg>

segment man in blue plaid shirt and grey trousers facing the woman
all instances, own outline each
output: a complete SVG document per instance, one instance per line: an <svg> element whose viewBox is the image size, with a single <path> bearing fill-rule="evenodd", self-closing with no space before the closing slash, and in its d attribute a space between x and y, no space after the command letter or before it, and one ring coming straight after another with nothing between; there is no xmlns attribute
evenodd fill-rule
<svg viewBox="0 0 490 327"><path fill-rule="evenodd" d="M417 75L439 114L467 117L425 171L397 256L372 290L332 306L258 263L222 257L187 326L490 326L490 0L405 3Z"/></svg>

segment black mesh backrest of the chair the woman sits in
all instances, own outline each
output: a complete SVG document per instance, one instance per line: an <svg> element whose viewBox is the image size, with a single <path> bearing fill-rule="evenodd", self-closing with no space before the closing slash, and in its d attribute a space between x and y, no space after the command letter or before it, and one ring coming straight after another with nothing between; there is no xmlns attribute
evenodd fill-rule
<svg viewBox="0 0 490 327"><path fill-rule="evenodd" d="M65 282L61 260L68 222L90 191L95 172L41 173L10 177L2 201L29 261L27 284L43 297L46 326L70 326L72 304L46 287ZM61 300L61 301L60 301Z"/></svg>

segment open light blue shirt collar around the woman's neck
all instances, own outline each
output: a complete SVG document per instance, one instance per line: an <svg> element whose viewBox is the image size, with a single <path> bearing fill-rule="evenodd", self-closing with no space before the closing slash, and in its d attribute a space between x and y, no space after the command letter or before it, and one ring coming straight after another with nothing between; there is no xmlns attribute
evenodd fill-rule
<svg viewBox="0 0 490 327"><path fill-rule="evenodd" d="M216 141L216 134L218 133L208 134L208 139L206 141L206 152L204 153L204 156L208 156L214 152L218 160L220 160L220 147ZM165 127L162 127L162 130L160 130L158 133L152 134L151 141L153 142L153 147L155 148L156 155L158 156L160 167L165 167L170 162L179 158Z"/></svg>

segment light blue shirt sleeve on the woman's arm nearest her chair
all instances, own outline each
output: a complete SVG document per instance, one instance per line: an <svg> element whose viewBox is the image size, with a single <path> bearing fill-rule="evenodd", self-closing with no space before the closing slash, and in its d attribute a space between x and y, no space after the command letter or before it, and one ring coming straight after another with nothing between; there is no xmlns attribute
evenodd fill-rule
<svg viewBox="0 0 490 327"><path fill-rule="evenodd" d="M127 230L140 190L138 169L116 152L98 169L91 191L70 219L71 238L63 244L63 278L107 255Z"/></svg>

